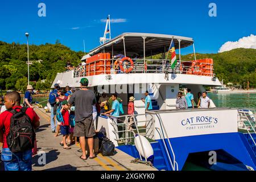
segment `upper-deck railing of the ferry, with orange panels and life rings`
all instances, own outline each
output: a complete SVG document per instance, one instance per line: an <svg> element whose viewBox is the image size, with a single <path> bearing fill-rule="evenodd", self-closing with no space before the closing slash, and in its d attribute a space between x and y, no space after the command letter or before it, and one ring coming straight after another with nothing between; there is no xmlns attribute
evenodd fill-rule
<svg viewBox="0 0 256 182"><path fill-rule="evenodd" d="M119 60L97 60L73 69L73 77L85 77L94 75L113 75L122 74L124 72L119 69ZM174 68L171 67L171 60L168 59L133 59L134 68L129 73L177 73L186 75L202 75L215 76L213 64L200 63L200 65L192 66L192 61L177 61ZM129 67L127 63L124 67ZM193 68L193 69L192 69Z"/></svg>

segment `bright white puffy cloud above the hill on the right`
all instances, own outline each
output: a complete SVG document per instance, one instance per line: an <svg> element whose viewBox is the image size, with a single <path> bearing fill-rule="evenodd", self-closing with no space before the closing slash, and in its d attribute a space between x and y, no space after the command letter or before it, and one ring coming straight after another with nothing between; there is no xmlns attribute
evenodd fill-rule
<svg viewBox="0 0 256 182"><path fill-rule="evenodd" d="M236 42L226 42L221 46L218 52L230 51L236 48L256 49L256 35L251 34L250 36L243 37Z"/></svg>

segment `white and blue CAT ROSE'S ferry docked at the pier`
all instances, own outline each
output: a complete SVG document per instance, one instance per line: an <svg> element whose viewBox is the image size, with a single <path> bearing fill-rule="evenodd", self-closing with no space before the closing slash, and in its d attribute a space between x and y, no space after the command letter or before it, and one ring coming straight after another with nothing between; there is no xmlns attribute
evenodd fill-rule
<svg viewBox="0 0 256 182"><path fill-rule="evenodd" d="M173 69L166 57L172 42L179 52ZM193 60L183 61L181 49L189 46ZM122 59L117 56L120 54ZM53 84L79 88L80 79L86 77L88 88L96 94L118 93L124 114L98 115L95 127L104 128L119 150L150 161L159 170L182 170L188 160L212 170L256 169L254 110L216 107L213 102L209 109L176 109L180 88L189 88L196 96L205 91L204 86L221 86L213 60L196 59L192 38L123 33L92 49L81 61L86 65L58 73ZM122 69L115 69L117 64ZM145 110L141 100L146 90L152 110ZM127 115L130 96L135 98L134 115ZM130 117L134 118L133 127L128 123Z"/></svg>

